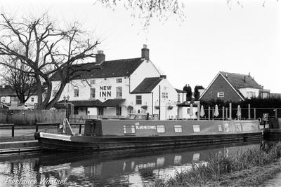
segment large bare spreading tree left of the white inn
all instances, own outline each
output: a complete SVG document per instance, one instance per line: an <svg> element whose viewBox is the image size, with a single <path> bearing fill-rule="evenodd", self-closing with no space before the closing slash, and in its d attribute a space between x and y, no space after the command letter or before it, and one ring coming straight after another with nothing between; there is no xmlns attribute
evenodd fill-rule
<svg viewBox="0 0 281 187"><path fill-rule="evenodd" d="M50 109L58 102L67 83L77 78L83 71L91 71L84 68L81 62L96 56L95 50L99 42L91 39L80 27L81 25L74 22L60 28L49 20L46 14L39 18L33 16L22 18L19 21L1 14L0 64L34 77L38 109ZM19 45L22 50L17 50ZM34 55L30 55L30 51ZM8 63L9 57L17 58L29 69L13 66ZM74 65L78 68L73 68ZM53 74L58 74L61 81L57 94L51 99L50 77Z"/></svg>

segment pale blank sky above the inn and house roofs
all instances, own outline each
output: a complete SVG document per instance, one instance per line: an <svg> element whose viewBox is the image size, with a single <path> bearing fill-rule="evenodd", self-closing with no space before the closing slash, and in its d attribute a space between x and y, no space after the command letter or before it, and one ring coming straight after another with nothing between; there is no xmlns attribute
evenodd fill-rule
<svg viewBox="0 0 281 187"><path fill-rule="evenodd" d="M207 88L218 71L251 74L270 92L281 93L281 2L186 0L185 20L152 19L143 30L123 6L114 11L93 0L1 0L0 10L23 16L48 12L59 24L79 21L102 43L105 60L141 57L147 44L150 60L174 88Z"/></svg>

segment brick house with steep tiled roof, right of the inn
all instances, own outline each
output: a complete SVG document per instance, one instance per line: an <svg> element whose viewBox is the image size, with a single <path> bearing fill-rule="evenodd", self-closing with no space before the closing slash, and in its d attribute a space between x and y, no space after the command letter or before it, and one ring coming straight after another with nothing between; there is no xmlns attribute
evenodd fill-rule
<svg viewBox="0 0 281 187"><path fill-rule="evenodd" d="M252 97L268 98L270 90L256 83L253 77L220 71L200 96L201 101L221 99L224 102L240 102Z"/></svg>

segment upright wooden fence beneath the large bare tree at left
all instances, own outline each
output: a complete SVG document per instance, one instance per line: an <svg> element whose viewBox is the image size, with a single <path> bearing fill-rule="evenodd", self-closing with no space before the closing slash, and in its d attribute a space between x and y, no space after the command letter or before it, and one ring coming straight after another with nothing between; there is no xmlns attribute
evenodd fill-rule
<svg viewBox="0 0 281 187"><path fill-rule="evenodd" d="M65 110L5 110L0 109L0 123L34 125L35 123L61 123Z"/></svg>

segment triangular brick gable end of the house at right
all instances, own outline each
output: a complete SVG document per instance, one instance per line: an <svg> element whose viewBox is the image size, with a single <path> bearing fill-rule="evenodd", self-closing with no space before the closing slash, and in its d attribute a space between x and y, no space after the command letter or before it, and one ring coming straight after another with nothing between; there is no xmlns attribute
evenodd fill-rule
<svg viewBox="0 0 281 187"><path fill-rule="evenodd" d="M223 92L223 97L218 97L218 92ZM233 86L226 80L226 78L218 73L214 81L211 82L209 87L205 90L200 100L211 100L211 99L221 99L224 102L227 101L241 101L243 97L233 88Z"/></svg>

